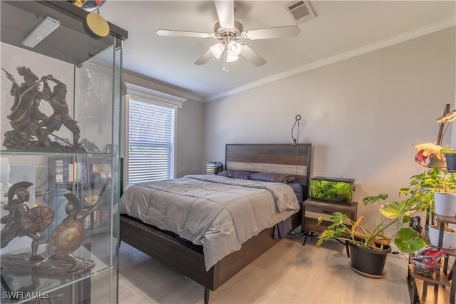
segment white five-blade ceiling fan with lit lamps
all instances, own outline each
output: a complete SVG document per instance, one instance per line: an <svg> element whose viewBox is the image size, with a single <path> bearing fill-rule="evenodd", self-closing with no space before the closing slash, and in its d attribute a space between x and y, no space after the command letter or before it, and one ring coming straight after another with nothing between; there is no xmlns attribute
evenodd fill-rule
<svg viewBox="0 0 456 304"><path fill-rule="evenodd" d="M209 61L212 56L219 59L223 55L224 70L227 70L227 63L237 61L237 59L239 59L239 55L247 58L255 66L262 66L263 64L266 64L266 60L247 46L247 44L244 44L242 40L294 37L299 35L300 29L296 25L244 31L244 26L242 26L239 21L234 20L233 0L215 0L214 3L215 8L217 9L219 21L214 25L213 33L159 29L157 30L157 34L160 36L217 39L217 44L214 44L204 54L202 54L202 56L195 61L195 64L202 65Z"/></svg>

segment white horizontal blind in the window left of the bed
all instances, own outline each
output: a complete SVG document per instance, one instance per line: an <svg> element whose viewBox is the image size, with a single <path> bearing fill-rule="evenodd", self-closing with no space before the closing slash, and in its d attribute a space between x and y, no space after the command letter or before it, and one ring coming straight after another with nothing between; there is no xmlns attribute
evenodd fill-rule
<svg viewBox="0 0 456 304"><path fill-rule="evenodd" d="M175 108L129 99L128 186L174 178Z"/></svg>

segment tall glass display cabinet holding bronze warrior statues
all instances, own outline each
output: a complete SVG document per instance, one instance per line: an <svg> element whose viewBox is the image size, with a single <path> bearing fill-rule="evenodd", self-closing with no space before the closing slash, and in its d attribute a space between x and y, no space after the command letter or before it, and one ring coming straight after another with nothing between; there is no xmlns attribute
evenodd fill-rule
<svg viewBox="0 0 456 304"><path fill-rule="evenodd" d="M116 303L128 32L73 1L0 5L0 302Z"/></svg>

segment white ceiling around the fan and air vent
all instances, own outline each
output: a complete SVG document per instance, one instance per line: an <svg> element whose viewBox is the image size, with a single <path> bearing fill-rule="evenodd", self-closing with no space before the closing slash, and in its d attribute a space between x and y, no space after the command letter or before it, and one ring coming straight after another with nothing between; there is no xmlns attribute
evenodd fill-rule
<svg viewBox="0 0 456 304"><path fill-rule="evenodd" d="M291 1L235 1L235 19L244 30L294 25L285 9ZM298 37L245 41L267 63L244 57L222 71L222 60L194 62L215 39L158 36L157 29L212 33L213 1L107 0L100 14L128 31L123 68L210 101L244 88L315 66L379 49L455 25L455 1L309 1L315 19L299 24Z"/></svg>

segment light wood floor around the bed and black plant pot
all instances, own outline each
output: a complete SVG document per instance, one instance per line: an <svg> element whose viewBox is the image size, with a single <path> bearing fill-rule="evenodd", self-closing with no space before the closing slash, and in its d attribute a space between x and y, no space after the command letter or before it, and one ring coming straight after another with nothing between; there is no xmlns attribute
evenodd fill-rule
<svg viewBox="0 0 456 304"><path fill-rule="evenodd" d="M209 303L410 303L407 260L388 255L385 277L366 278L348 264L345 246L285 238L211 291ZM119 303L204 303L204 288L128 244L119 255Z"/></svg>

